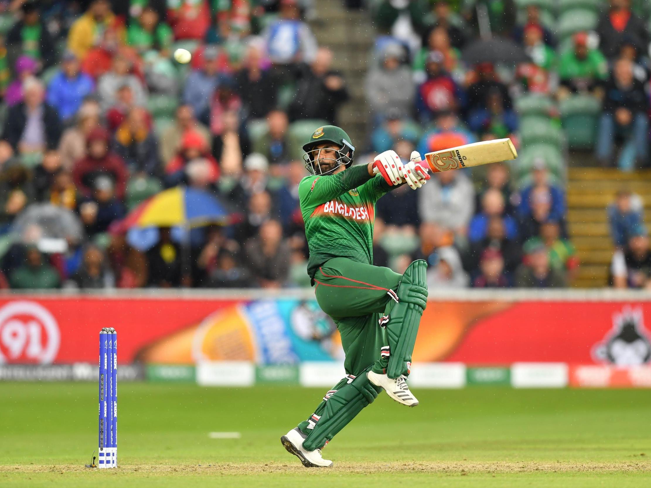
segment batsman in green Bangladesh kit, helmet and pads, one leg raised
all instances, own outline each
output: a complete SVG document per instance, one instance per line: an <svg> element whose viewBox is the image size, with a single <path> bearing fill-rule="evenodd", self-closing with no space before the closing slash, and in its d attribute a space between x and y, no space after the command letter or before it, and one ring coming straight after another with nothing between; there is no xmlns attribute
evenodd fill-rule
<svg viewBox="0 0 651 488"><path fill-rule="evenodd" d="M298 190L310 250L307 272L318 305L339 329L347 376L281 442L303 466L329 467L321 449L382 389L402 405L418 405L405 379L427 303L427 265L414 261L404 275L374 266L372 242L378 198L405 183L418 189L430 176L415 151L406 164L389 150L352 166L355 148L335 126L316 129L303 150L311 173Z"/></svg>

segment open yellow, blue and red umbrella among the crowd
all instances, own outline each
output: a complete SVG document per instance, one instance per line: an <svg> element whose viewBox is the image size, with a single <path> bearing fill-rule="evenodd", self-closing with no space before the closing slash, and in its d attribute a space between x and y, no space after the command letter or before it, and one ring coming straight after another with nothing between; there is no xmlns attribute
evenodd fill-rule
<svg viewBox="0 0 651 488"><path fill-rule="evenodd" d="M145 200L112 230L124 232L133 227L225 225L229 220L229 211L210 193L174 187Z"/></svg>

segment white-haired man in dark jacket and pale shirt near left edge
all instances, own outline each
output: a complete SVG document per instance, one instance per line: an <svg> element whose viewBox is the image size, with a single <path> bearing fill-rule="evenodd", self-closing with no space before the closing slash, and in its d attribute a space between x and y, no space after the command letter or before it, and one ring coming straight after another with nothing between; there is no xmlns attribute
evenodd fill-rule
<svg viewBox="0 0 651 488"><path fill-rule="evenodd" d="M23 81L24 101L11 107L5 120L2 139L20 154L56 149L61 139L61 119L57 110L45 102L43 84L36 78Z"/></svg>

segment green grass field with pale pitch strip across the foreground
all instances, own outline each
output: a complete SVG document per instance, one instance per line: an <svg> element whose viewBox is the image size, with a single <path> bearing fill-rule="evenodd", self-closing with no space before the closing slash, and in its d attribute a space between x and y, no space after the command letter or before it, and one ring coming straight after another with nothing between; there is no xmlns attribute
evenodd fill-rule
<svg viewBox="0 0 651 488"><path fill-rule="evenodd" d="M324 450L335 467L308 470L279 437L324 390L121 383L120 467L100 471L82 468L97 385L0 382L0 486L651 485L650 390L418 390L415 409L383 394Z"/></svg>

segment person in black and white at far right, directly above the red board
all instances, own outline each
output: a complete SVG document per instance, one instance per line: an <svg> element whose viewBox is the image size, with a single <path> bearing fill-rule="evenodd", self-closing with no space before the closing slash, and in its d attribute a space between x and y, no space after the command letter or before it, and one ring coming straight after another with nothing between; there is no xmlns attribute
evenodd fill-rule
<svg viewBox="0 0 651 488"><path fill-rule="evenodd" d="M615 251L610 271L615 288L651 288L651 250L644 225L636 226L626 247Z"/></svg>

